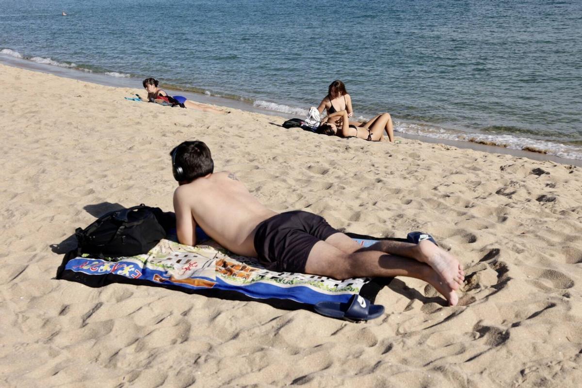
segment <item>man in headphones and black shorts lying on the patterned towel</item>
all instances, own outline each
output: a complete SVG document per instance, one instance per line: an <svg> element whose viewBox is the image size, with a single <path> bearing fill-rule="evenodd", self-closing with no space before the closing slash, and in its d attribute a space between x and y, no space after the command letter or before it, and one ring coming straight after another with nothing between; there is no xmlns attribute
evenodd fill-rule
<svg viewBox="0 0 582 388"><path fill-rule="evenodd" d="M258 258L268 269L349 279L410 276L432 284L456 305L464 280L459 261L429 240L378 241L362 248L324 218L304 211L276 213L249 193L233 173L214 172L210 149L184 141L172 149L176 230L196 245L196 226L237 255Z"/></svg>

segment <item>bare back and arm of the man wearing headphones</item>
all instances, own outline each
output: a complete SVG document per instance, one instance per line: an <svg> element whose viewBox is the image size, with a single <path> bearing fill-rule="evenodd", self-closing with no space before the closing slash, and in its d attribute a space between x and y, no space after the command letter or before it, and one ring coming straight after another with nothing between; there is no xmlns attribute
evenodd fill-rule
<svg viewBox="0 0 582 388"><path fill-rule="evenodd" d="M276 215L249 193L233 173L218 172L182 184L174 192L178 239L196 245L196 226L228 250L257 257L257 225Z"/></svg>

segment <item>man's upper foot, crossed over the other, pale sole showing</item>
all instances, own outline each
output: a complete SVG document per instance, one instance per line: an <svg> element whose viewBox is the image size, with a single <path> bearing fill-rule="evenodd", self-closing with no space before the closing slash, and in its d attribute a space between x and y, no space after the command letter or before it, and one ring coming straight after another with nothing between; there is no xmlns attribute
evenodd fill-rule
<svg viewBox="0 0 582 388"><path fill-rule="evenodd" d="M417 247L420 254L420 257L417 258L418 261L430 265L441 279L445 281L448 287L453 290L458 290L465 279L463 266L460 264L459 260L445 250L437 247L437 245L429 240L419 241ZM435 286L435 284L432 285ZM441 294L445 295L442 292Z"/></svg>

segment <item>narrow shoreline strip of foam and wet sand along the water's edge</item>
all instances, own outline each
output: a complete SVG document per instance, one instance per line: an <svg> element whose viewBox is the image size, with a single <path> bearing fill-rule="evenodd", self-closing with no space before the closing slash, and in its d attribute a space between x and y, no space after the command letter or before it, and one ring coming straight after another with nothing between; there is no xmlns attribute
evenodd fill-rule
<svg viewBox="0 0 582 388"><path fill-rule="evenodd" d="M136 77L114 77L109 76L107 74L102 73L93 73L93 72L83 72L77 69L71 69L68 67L59 67L54 65L49 65L45 63L37 63L27 59L16 58L15 56L10 56L6 54L0 55L0 64L16 67L19 69L26 69L26 70L33 70L36 72L47 73L47 74L54 74L55 76L65 77L69 79L85 81L89 83L94 83L103 86L111 86L117 88L141 88L139 85L141 84L141 80L137 79ZM136 87L136 84L138 86ZM261 113L264 115L269 116L278 116L283 117L286 119L297 117L292 113L285 113L279 111L273 111L271 109L261 108L260 106L255 106L249 104L249 102L245 101L237 101L236 99L226 98L226 97L219 97L215 95L208 95L204 93L198 92L191 92L191 91L182 91L176 90L172 88L164 88L167 91L176 92L176 94L183 95L187 99L191 99L192 101L201 102L203 104L212 104L222 106L224 108L234 108L240 109L242 111L251 112L251 113ZM276 104L276 103L273 103ZM300 117L301 118L301 117ZM279 123L281 124L281 123ZM513 148L506 148L501 147L499 145L486 145L480 143L474 143L471 141L462 141L462 140L449 140L444 138L434 138L430 136L421 136L416 134L410 133L403 133L397 131L395 129L395 136L399 136L402 138L410 139L410 140L418 140L424 143L430 144L445 144L450 145L452 147L463 148L463 149L473 149L475 151L482 151L487 152L488 154L502 154L502 155L511 155L516 156L519 158L528 158L535 161L551 161L555 163L560 163L562 165L573 165L582 167L582 159L568 159L562 158L560 156L555 156L551 154L543 154L541 152L533 152L533 151L526 151L523 149L513 149Z"/></svg>

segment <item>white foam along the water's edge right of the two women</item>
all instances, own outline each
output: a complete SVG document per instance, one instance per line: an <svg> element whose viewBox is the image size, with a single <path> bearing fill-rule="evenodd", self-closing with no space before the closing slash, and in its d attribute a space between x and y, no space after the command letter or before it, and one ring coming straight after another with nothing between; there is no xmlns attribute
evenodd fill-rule
<svg viewBox="0 0 582 388"><path fill-rule="evenodd" d="M473 143L499 145L509 149L537 150L560 158L582 160L582 147L562 144L556 141L535 140L508 134L467 133L411 123L395 123L394 130L443 140L471 141Z"/></svg>

